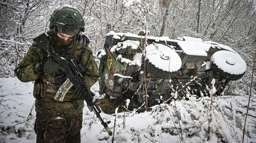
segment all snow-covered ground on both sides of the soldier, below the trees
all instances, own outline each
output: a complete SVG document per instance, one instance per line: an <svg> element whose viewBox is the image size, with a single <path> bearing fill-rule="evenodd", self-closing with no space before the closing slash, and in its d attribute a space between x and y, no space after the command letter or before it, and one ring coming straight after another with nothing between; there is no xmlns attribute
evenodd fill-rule
<svg viewBox="0 0 256 143"><path fill-rule="evenodd" d="M22 83L17 78L0 79L0 142L36 142L35 118L8 129L27 120L35 100L32 90L32 83ZM98 83L92 90L99 96ZM256 142L256 95L253 96L245 142ZM214 98L212 106L208 97L190 98L156 105L145 113L118 113L114 142L242 142L247 104L248 95L241 93ZM32 118L35 114L34 109ZM115 114L102 113L101 116L111 121L110 127L114 126ZM210 124L208 119L211 119ZM206 141L209 127L210 140ZM99 120L85 106L81 142L112 142L112 136L102 130Z"/></svg>

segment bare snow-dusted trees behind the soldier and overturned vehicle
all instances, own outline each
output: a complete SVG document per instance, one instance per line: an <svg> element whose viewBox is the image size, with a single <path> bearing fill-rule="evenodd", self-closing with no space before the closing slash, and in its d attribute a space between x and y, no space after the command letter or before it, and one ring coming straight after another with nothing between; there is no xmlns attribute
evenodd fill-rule
<svg viewBox="0 0 256 143"><path fill-rule="evenodd" d="M106 33L137 33L170 39L189 36L232 47L247 63L243 78L228 92L249 92L256 43L256 2L253 0L1 0L0 78L14 76L32 39L48 30L52 12L66 4L85 19L93 52L102 49ZM255 74L254 74L255 77ZM254 78L253 85L256 85ZM255 87L254 87L255 92Z"/></svg>

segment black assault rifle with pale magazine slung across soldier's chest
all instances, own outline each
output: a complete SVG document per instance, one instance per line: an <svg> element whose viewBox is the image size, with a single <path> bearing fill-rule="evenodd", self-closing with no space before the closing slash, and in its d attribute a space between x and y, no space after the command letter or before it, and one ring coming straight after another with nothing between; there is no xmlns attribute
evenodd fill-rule
<svg viewBox="0 0 256 143"><path fill-rule="evenodd" d="M110 130L109 126L107 124L110 123L110 121L105 122L101 116L101 110L97 103L93 101L93 96L91 95L90 89L88 89L85 79L82 76L83 68L80 66L77 66L74 62L74 59L66 60L64 58L61 58L58 56L58 54L55 52L55 49L50 49L48 51L48 38L46 37L46 34L43 33L33 39L33 41L47 54L50 53L52 58L55 59L55 61L60 64L62 67L64 67L66 70L63 71L65 74L66 81L61 85L61 88L58 89L55 100L63 101L67 91L72 87L75 86L75 88L81 88L83 89L83 99L86 101L88 107L90 107L93 112L96 114L97 118L100 120L101 124L104 126L105 130L108 132L108 134L111 136L112 131Z"/></svg>

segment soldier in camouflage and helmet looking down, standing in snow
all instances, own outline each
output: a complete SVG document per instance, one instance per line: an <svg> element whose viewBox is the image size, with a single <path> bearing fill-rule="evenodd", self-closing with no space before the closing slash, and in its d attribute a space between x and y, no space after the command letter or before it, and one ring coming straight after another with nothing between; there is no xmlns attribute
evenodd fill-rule
<svg viewBox="0 0 256 143"><path fill-rule="evenodd" d="M36 98L36 142L80 142L83 100L75 88L67 91L63 102L54 99L65 79L63 67L52 57L50 49L65 59L74 58L85 69L83 76L88 88L98 79L89 40L81 32L85 22L77 9L63 7L53 12L48 33L48 53L33 44L22 62L14 70L19 80L35 81L33 96ZM50 48L49 48L50 47ZM58 78L57 78L58 77Z"/></svg>

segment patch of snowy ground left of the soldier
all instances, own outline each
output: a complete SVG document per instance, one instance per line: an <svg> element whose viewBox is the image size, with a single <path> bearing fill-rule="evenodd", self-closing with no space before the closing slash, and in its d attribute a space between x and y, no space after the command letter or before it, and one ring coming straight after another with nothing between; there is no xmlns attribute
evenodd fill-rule
<svg viewBox="0 0 256 143"><path fill-rule="evenodd" d="M4 139L6 142L35 142L35 132L33 132L33 120L29 120L24 124L12 127L8 136L3 134L3 129L27 120L28 114L34 102L32 95L33 84L21 83L17 78L1 78L0 79L0 142ZM35 116L35 110L32 111ZM21 129L24 139L17 137L15 134ZM7 134L7 132L6 132ZM28 137L28 140L26 140Z"/></svg>

